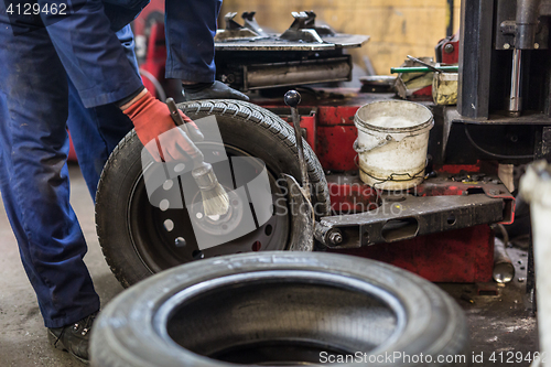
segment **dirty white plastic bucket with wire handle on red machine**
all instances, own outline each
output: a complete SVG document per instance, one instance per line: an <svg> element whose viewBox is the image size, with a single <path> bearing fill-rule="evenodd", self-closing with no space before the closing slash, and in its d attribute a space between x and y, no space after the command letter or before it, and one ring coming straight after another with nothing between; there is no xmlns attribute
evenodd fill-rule
<svg viewBox="0 0 551 367"><path fill-rule="evenodd" d="M407 190L423 182L434 126L429 108L406 100L375 101L358 109L354 125L361 181L382 190Z"/></svg>

